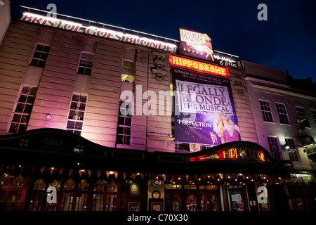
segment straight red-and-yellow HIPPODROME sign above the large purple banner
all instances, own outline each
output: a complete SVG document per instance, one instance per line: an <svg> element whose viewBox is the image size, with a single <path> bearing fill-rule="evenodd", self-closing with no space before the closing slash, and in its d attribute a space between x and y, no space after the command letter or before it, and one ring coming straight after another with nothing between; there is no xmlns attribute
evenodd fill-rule
<svg viewBox="0 0 316 225"><path fill-rule="evenodd" d="M180 68L187 68L190 70L197 70L200 72L206 72L211 75L218 75L221 77L229 77L228 70L217 65L212 65L209 63L202 63L196 60L191 60L189 58L182 58L178 56L170 56L170 65L176 65Z"/></svg>

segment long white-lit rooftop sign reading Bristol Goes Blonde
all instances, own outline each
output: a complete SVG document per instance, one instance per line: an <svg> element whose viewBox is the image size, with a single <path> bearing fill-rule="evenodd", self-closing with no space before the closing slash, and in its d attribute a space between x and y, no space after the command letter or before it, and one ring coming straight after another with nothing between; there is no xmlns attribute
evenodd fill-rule
<svg viewBox="0 0 316 225"><path fill-rule="evenodd" d="M86 27L81 23L74 23L69 20L60 20L52 17L45 17L43 15L37 15L34 13L22 13L20 20L44 25L47 27L55 27L63 30L70 30L72 32L79 32L84 34L90 34L96 37L103 37L106 39L113 39L116 41L123 41L125 43L138 44L140 46L149 47L152 49L158 49L167 51L169 53L176 53L177 45L155 39L149 39L146 37L139 37L133 34L127 34L123 32L117 32L114 30L105 29L103 27L89 26Z"/></svg>

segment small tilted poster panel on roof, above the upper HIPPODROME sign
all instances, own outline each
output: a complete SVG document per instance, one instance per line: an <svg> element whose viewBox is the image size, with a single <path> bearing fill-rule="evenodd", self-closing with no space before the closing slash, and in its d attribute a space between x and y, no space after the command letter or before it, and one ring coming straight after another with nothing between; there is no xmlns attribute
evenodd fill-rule
<svg viewBox="0 0 316 225"><path fill-rule="evenodd" d="M180 54L213 62L213 46L208 34L179 27Z"/></svg>

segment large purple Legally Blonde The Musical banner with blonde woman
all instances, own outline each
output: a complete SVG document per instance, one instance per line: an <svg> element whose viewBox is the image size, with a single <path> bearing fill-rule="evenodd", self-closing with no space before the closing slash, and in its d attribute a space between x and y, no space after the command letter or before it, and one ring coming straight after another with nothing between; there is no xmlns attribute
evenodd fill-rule
<svg viewBox="0 0 316 225"><path fill-rule="evenodd" d="M171 68L175 141L217 146L239 141L230 79Z"/></svg>

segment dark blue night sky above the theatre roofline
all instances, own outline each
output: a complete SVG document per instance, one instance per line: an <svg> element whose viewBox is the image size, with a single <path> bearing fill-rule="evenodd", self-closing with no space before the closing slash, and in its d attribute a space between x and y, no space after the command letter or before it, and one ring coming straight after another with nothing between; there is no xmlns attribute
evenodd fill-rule
<svg viewBox="0 0 316 225"><path fill-rule="evenodd" d="M20 5L178 39L178 27L211 36L213 49L239 60L288 70L296 79L316 82L316 1L66 1L11 0L12 17ZM259 21L258 4L268 6L268 20Z"/></svg>

